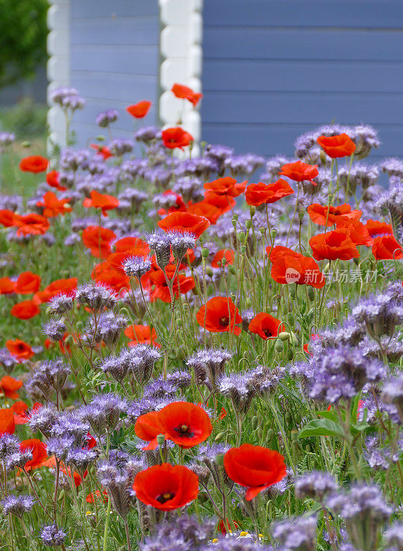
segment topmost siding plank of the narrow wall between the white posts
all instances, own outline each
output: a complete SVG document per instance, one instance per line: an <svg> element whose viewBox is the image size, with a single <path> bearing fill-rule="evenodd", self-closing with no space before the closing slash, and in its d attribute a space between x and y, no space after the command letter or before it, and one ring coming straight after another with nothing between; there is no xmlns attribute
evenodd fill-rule
<svg viewBox="0 0 403 551"><path fill-rule="evenodd" d="M157 0L71 0L73 19L94 17L133 17L158 14Z"/></svg>

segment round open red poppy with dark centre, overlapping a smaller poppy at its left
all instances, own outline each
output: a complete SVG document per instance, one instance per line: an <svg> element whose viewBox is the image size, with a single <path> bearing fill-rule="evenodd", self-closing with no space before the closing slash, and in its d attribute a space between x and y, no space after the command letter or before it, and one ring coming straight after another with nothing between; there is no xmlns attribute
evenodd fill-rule
<svg viewBox="0 0 403 551"><path fill-rule="evenodd" d="M213 431L206 411L190 402L168 404L157 413L156 421L160 433L181 448L193 448L201 444Z"/></svg>

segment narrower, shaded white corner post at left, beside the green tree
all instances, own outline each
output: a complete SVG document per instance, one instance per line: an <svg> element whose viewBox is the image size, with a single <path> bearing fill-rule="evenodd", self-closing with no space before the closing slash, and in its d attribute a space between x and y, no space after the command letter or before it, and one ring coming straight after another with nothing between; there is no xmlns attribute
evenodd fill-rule
<svg viewBox="0 0 403 551"><path fill-rule="evenodd" d="M50 128L50 139L54 143L64 145L65 119L60 107L51 105L50 92L55 88L70 85L70 6L69 0L49 0L50 8L47 11L47 103L50 106L47 112L47 123Z"/></svg>

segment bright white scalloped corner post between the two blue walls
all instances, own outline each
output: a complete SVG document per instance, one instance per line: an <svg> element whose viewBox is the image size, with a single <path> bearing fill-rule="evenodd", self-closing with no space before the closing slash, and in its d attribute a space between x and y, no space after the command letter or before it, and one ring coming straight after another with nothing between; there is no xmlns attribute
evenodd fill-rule
<svg viewBox="0 0 403 551"><path fill-rule="evenodd" d="M201 90L203 51L203 0L159 0L162 31L160 36L160 119L172 126L182 116L182 125L195 138L193 152L199 153L201 116L190 101L176 98L171 92L175 83L195 92ZM203 101L203 100L201 100Z"/></svg>

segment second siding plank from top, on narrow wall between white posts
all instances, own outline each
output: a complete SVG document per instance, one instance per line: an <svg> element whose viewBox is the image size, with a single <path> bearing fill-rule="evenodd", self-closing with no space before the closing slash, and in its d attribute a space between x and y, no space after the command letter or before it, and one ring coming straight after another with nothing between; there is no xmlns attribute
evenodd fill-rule
<svg viewBox="0 0 403 551"><path fill-rule="evenodd" d="M71 43L95 45L157 45L160 23L157 17L78 19L73 21Z"/></svg>

